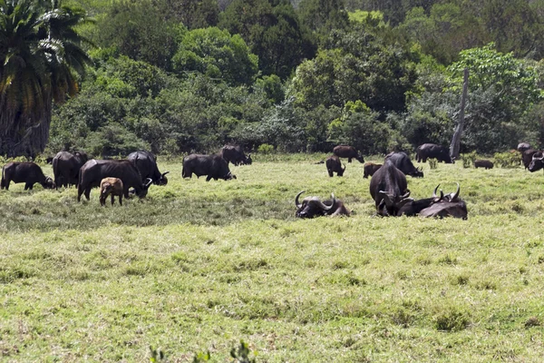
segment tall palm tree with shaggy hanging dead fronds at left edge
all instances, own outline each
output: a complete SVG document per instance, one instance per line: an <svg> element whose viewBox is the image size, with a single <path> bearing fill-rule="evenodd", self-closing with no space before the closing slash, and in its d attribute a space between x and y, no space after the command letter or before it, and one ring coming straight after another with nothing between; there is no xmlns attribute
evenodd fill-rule
<svg viewBox="0 0 544 363"><path fill-rule="evenodd" d="M57 0L0 0L0 154L44 151L52 103L74 96L91 64L74 30L88 21Z"/></svg>

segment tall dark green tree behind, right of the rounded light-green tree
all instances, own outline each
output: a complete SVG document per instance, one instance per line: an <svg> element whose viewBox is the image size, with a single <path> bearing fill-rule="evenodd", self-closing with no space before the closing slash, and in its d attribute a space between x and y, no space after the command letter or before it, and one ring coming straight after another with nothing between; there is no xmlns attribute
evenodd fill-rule
<svg viewBox="0 0 544 363"><path fill-rule="evenodd" d="M219 26L244 38L265 75L285 80L303 59L316 54L309 29L287 0L235 0L221 14Z"/></svg>

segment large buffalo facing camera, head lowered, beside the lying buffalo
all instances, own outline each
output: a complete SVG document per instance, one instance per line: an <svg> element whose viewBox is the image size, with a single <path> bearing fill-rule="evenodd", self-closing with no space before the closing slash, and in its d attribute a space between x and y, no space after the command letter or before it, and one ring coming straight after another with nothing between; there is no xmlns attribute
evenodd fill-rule
<svg viewBox="0 0 544 363"><path fill-rule="evenodd" d="M396 216L403 205L413 201L403 172L386 159L384 165L374 172L370 180L370 195L375 201L376 211L383 216Z"/></svg>

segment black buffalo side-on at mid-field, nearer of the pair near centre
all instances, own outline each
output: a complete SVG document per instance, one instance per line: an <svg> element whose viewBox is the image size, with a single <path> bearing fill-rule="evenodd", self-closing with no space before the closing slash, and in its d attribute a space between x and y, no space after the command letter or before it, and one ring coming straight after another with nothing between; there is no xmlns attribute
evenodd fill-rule
<svg viewBox="0 0 544 363"><path fill-rule="evenodd" d="M201 155L191 153L189 156L184 157L181 176L183 178L190 178L193 173L198 178L201 175L208 175L206 182L209 182L211 179L215 179L216 181L218 179L225 181L236 179L236 175L233 175L228 169L228 162L219 154Z"/></svg>

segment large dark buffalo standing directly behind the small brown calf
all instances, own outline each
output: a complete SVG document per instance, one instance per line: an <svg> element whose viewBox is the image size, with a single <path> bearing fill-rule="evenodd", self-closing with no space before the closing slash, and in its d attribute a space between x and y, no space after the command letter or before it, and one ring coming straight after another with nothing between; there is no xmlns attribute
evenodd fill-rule
<svg viewBox="0 0 544 363"><path fill-rule="evenodd" d="M151 182L141 181L141 175L132 162L128 160L90 160L85 162L79 172L77 184L77 201L81 201L83 192L87 201L90 200L91 188L100 186L104 178L119 178L122 181L122 193L129 198L129 189L134 188L134 193L143 198L147 195Z"/></svg>

